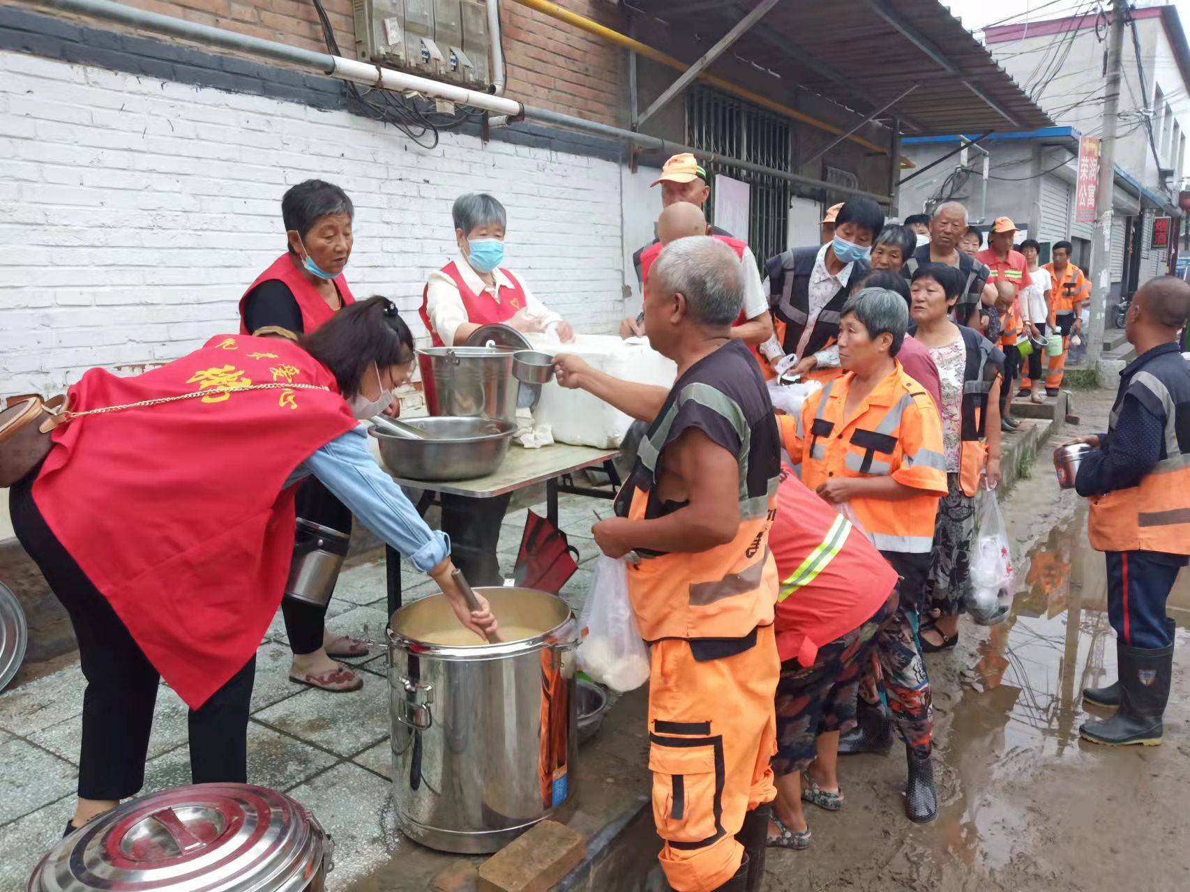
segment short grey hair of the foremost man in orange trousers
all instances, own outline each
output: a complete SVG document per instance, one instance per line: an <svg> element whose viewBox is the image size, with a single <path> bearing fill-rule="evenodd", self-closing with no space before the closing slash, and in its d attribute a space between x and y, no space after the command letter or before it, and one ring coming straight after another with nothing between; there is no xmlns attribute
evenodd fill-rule
<svg viewBox="0 0 1190 892"><path fill-rule="evenodd" d="M665 289L678 291L696 322L731 325L744 307L744 265L726 244L710 235L675 239L653 263L651 275Z"/></svg>

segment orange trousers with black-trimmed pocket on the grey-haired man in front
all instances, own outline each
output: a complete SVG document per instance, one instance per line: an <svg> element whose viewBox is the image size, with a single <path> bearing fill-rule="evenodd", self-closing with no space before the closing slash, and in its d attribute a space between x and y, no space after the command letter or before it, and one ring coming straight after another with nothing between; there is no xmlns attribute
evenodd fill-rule
<svg viewBox="0 0 1190 892"><path fill-rule="evenodd" d="M665 842L658 858L677 892L712 892L744 859L735 841L744 815L777 794L776 635L762 626L754 647L706 662L688 641L665 639L651 664L649 768Z"/></svg>

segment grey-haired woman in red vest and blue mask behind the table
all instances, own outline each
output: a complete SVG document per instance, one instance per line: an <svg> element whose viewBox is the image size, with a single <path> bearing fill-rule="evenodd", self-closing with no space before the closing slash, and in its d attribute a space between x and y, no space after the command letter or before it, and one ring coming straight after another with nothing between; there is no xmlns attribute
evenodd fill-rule
<svg viewBox="0 0 1190 892"><path fill-rule="evenodd" d="M503 322L519 332L553 329L563 341L575 339L560 315L546 309L505 260L505 206L486 193L461 195L451 211L458 255L421 291L421 321L436 347L462 346L478 328ZM511 495L496 498L443 497L441 526L455 544L456 559L475 585L500 585L496 560L500 524Z"/></svg>

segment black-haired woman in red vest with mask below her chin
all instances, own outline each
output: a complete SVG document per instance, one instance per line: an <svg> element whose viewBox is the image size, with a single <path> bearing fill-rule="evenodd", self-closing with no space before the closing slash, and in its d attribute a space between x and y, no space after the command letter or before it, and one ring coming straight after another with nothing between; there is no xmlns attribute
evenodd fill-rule
<svg viewBox="0 0 1190 892"><path fill-rule="evenodd" d="M287 250L239 300L242 334L298 338L355 302L343 277L351 257L355 208L338 186L307 180L281 199ZM298 491L298 516L351 534L351 511L311 477ZM286 598L281 604L294 660L289 678L326 691L358 691L363 677L334 658L368 655L368 647L326 630L326 605Z"/></svg>

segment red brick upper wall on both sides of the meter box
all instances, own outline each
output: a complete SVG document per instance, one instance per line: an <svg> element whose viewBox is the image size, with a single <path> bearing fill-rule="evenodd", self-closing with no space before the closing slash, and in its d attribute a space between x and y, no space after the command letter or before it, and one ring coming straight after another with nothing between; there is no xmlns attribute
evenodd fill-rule
<svg viewBox="0 0 1190 892"><path fill-rule="evenodd" d="M130 6L203 25L324 50L311 0L121 0ZM618 31L627 25L612 0L560 0L581 15ZM351 0L322 0L339 49L355 58ZM626 52L597 37L500 0L508 68L508 95L606 124L622 124L627 95Z"/></svg>

